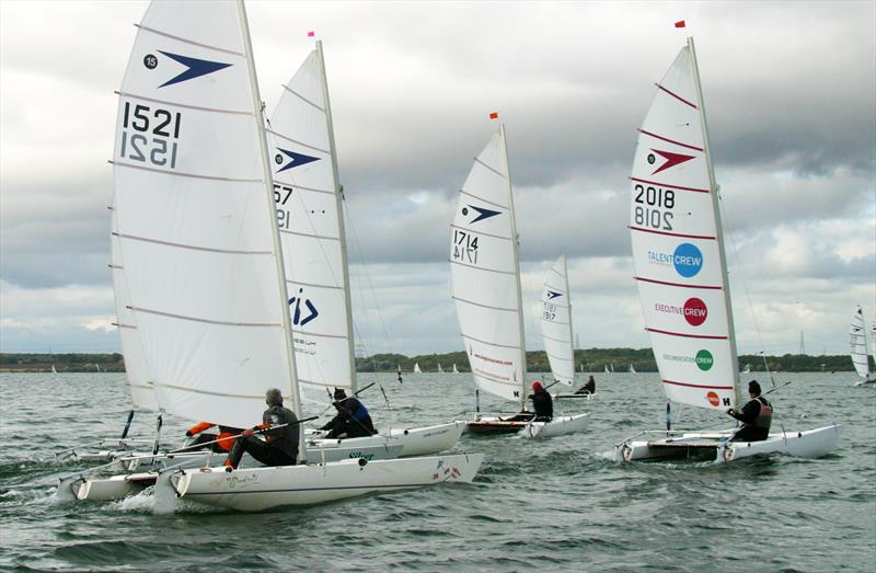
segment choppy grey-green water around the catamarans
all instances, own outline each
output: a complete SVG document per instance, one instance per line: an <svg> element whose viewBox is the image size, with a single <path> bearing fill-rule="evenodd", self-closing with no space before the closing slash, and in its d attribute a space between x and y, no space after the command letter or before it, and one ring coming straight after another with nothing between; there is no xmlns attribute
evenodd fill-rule
<svg viewBox="0 0 876 573"><path fill-rule="evenodd" d="M486 452L473 484L260 514L186 503L168 517L151 514L147 494L53 497L58 475L79 467L53 461L56 449L120 433L122 380L0 375L0 569L873 571L876 560L876 390L853 388L851 374L779 375L794 383L770 397L788 431L843 424L823 459L615 463L615 442L664 425L662 391L657 375L597 375L598 399L566 408L591 412L587 433L463 437L460 449ZM464 416L473 403L464 374L380 380L410 425ZM377 387L364 400L385 424ZM715 423L694 409L681 416ZM151 436L152 424L142 415L132 433ZM186 425L170 421L164 435Z"/></svg>

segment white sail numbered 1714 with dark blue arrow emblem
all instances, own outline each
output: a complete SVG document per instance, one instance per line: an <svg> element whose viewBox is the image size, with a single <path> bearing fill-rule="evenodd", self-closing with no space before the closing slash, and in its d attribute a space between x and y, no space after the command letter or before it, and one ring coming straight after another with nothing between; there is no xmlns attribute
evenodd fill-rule
<svg viewBox="0 0 876 573"><path fill-rule="evenodd" d="M474 382L522 403L526 349L504 127L475 159L450 227L453 298Z"/></svg>

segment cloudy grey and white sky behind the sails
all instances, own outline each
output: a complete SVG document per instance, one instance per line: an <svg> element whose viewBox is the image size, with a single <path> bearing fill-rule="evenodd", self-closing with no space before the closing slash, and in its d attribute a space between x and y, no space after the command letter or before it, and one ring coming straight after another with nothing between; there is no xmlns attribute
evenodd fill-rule
<svg viewBox="0 0 876 573"><path fill-rule="evenodd" d="M0 352L118 352L116 95L146 2L0 0ZM876 318L876 3L247 2L273 110L324 43L361 353L461 351L449 224L506 124L529 349L568 256L581 348L646 347L630 184L658 81L696 41L740 354L848 352ZM672 23L685 20L688 27Z"/></svg>

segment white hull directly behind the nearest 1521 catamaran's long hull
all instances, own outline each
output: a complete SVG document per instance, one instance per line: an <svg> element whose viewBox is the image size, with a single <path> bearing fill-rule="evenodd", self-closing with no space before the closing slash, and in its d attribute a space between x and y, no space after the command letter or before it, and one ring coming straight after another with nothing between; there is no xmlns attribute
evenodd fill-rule
<svg viewBox="0 0 876 573"><path fill-rule="evenodd" d="M425 427L393 428L387 433L359 438L316 438L311 443L324 446L326 450L333 445L346 448L373 447L385 444L400 445L402 447L400 457L425 456L451 449L459 442L464 428L464 422L450 422Z"/></svg>

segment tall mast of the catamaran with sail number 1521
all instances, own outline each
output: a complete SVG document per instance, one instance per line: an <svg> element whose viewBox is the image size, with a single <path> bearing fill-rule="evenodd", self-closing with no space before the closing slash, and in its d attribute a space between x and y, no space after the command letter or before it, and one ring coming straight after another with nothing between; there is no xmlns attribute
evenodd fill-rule
<svg viewBox="0 0 876 573"><path fill-rule="evenodd" d="M250 85L252 88L253 113L255 115L255 125L258 130L258 146L262 149L262 170L265 180L265 193L268 199L268 215L270 219L270 234L274 239L274 261L277 264L277 287L280 294L280 310L283 316L283 333L286 339L286 360L289 365L289 389L292 396L292 409L295 415L301 419L301 397L298 394L298 374L295 366L295 346L292 339L292 320L289 317L289 293L286 289L286 268L283 262L283 250L280 248L280 231L277 226L277 213L274 208L274 177L268 164L268 149L267 149L267 135L265 134L265 122L262 116L262 95L258 92L258 80L255 73L255 59L253 58L253 44L250 38L250 24L246 20L246 8L243 5L243 0L238 0L238 11L240 13L240 23L243 33L244 47L246 49L246 67L250 71ZM298 462L307 461L308 450L304 444L303 428L298 428Z"/></svg>

